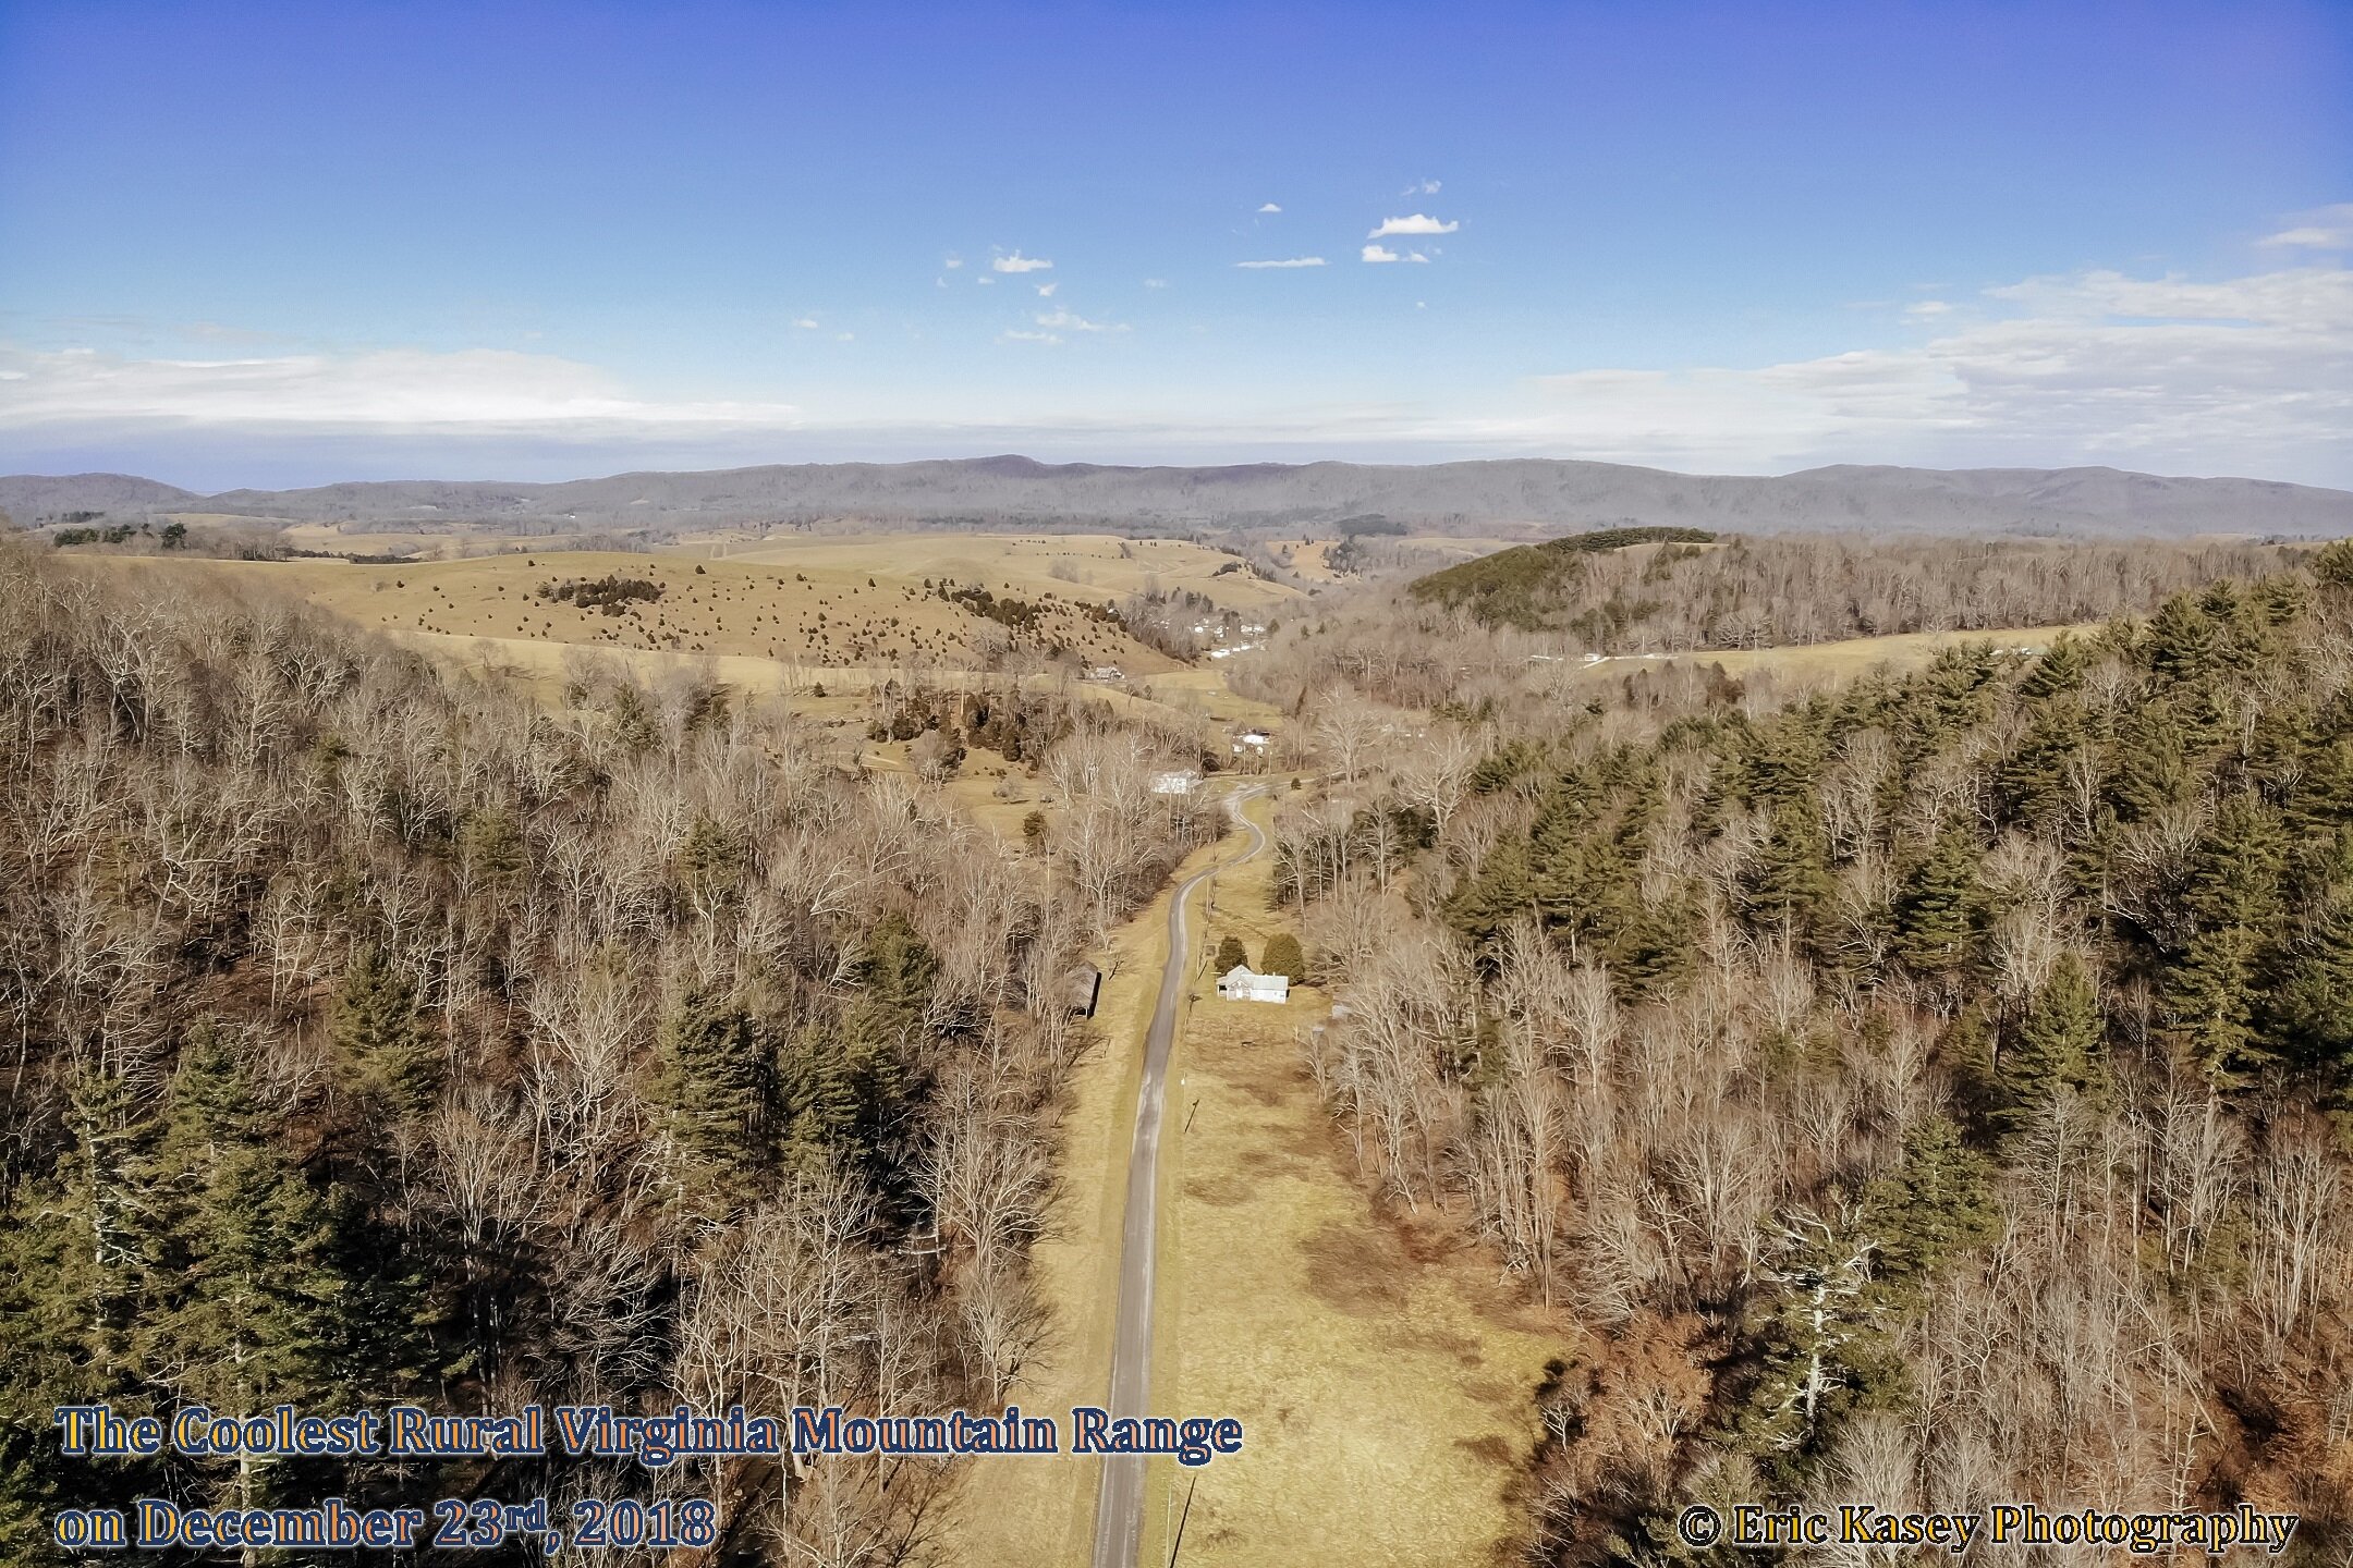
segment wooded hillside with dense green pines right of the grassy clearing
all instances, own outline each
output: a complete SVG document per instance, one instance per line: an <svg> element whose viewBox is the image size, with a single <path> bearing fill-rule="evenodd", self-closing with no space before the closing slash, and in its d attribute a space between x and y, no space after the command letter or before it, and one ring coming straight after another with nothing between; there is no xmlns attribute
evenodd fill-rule
<svg viewBox="0 0 2353 1568"><path fill-rule="evenodd" d="M1692 1500L2257 1500L2341 1561L2353 545L1791 701L1452 668L1278 844L1367 1180L1591 1331L1534 1559L1697 1561Z"/></svg>

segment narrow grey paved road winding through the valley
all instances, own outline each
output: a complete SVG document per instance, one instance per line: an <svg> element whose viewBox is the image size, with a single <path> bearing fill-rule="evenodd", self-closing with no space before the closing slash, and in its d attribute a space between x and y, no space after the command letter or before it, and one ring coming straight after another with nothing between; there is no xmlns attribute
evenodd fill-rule
<svg viewBox="0 0 2353 1568"><path fill-rule="evenodd" d="M1160 971L1160 1004L1144 1034L1144 1086L1136 1091L1136 1145L1127 1157L1127 1220L1120 1227L1120 1333L1111 1345L1113 1420L1151 1413L1153 1392L1153 1253L1160 1229L1160 1112L1167 1103L1169 1044L1176 1037L1176 997L1186 980L1184 907L1193 889L1266 849L1266 832L1242 816L1247 790L1231 802L1233 818L1249 830L1249 849L1193 872L1169 898L1169 959ZM1144 1528L1144 1455L1104 1460L1104 1490L1094 1502L1094 1568L1136 1568Z"/></svg>

